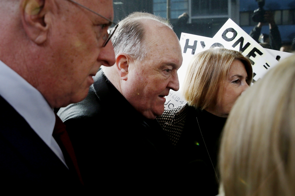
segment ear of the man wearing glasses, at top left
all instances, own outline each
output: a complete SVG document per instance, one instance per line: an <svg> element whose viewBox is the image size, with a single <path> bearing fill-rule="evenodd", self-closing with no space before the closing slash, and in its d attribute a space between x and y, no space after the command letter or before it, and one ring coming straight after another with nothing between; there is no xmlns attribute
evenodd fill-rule
<svg viewBox="0 0 295 196"><path fill-rule="evenodd" d="M21 0L19 5L24 30L36 44L44 43L48 35L49 20L45 1L48 6L48 0Z"/></svg>

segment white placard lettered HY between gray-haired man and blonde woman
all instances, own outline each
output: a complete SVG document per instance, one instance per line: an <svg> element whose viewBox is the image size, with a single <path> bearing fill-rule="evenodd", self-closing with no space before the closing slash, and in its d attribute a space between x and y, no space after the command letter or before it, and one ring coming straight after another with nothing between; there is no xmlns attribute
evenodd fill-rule
<svg viewBox="0 0 295 196"><path fill-rule="evenodd" d="M185 99L181 95L182 84L185 78L186 70L191 58L194 54L197 54L204 50L206 45L212 45L212 38L203 37L199 35L192 35L188 33L181 33L180 45L182 51L182 65L178 69L178 80L179 80L179 90L177 92L170 90L168 96L166 96L165 108L172 108L182 104L186 104Z"/></svg>

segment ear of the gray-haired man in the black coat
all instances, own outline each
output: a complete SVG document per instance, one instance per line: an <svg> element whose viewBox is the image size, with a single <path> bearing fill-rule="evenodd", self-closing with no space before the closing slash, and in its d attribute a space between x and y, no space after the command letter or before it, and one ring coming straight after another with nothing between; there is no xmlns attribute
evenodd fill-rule
<svg viewBox="0 0 295 196"><path fill-rule="evenodd" d="M118 71L118 74L122 80L127 80L127 75L129 73L129 65L130 62L132 62L132 58L130 55L127 55L126 53L119 53L116 56L116 68Z"/></svg>

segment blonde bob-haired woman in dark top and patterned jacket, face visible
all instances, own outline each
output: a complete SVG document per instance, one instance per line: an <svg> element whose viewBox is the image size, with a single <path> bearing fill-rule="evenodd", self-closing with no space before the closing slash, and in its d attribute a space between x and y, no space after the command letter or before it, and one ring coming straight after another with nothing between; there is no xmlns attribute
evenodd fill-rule
<svg viewBox="0 0 295 196"><path fill-rule="evenodd" d="M217 195L221 130L233 104L252 82L250 61L224 48L194 55L183 84L186 105L167 109L158 121L185 165L187 183L199 194Z"/></svg>

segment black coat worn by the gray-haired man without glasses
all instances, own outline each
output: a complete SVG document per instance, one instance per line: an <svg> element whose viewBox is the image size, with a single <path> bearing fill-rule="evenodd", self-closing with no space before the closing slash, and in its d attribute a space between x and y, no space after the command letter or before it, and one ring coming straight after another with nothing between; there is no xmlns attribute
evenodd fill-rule
<svg viewBox="0 0 295 196"><path fill-rule="evenodd" d="M86 187L163 187L171 177L174 148L162 127L137 112L102 71L86 99L58 115L67 126Z"/></svg>

